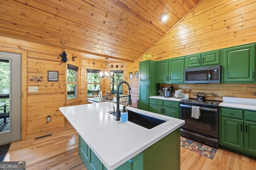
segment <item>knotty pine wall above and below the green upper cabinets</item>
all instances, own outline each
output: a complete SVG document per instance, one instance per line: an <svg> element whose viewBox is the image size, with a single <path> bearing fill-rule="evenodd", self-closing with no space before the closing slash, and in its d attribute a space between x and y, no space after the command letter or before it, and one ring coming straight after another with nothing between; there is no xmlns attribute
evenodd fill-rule
<svg viewBox="0 0 256 170"><path fill-rule="evenodd" d="M254 0L202 0L147 53L153 60L170 59L204 51L256 42L256 2ZM138 68L140 59L128 65L128 72ZM137 82L131 82L138 86ZM204 92L207 99L223 96L256 98L256 84L160 84L174 85L190 98ZM136 89L134 89L136 90ZM138 90L137 90L138 91ZM138 99L134 94L132 100Z"/></svg>

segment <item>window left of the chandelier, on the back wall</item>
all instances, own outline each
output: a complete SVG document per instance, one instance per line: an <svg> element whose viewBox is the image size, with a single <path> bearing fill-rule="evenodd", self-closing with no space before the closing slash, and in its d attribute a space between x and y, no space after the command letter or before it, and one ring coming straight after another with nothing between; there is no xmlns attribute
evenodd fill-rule
<svg viewBox="0 0 256 170"><path fill-rule="evenodd" d="M100 91L100 71L87 69L87 96L92 96L92 92Z"/></svg>

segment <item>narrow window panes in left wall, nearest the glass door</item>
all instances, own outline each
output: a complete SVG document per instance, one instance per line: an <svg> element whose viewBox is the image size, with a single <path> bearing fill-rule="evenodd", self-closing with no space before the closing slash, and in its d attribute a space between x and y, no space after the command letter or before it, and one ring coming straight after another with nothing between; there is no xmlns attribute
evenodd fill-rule
<svg viewBox="0 0 256 170"><path fill-rule="evenodd" d="M75 99L78 94L78 67L68 64L67 99Z"/></svg>

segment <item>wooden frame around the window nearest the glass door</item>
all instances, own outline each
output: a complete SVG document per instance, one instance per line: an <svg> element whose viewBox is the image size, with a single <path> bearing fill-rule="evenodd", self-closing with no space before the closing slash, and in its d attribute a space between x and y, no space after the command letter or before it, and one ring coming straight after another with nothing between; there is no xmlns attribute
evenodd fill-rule
<svg viewBox="0 0 256 170"><path fill-rule="evenodd" d="M68 69L69 67L77 68L75 82L68 82ZM72 70L72 69L70 69ZM75 70L76 71L76 70ZM66 104L72 104L74 102L80 101L80 66L76 63L66 63L66 90L65 90L65 97L66 97ZM76 84L76 98L68 99L68 84Z"/></svg>

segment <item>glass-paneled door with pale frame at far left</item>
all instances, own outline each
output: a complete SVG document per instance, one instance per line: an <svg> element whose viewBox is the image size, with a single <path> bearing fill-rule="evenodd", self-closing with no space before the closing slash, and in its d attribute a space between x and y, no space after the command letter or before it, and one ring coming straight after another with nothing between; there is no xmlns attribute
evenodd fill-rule
<svg viewBox="0 0 256 170"><path fill-rule="evenodd" d="M21 139L21 55L0 51L0 144Z"/></svg>

